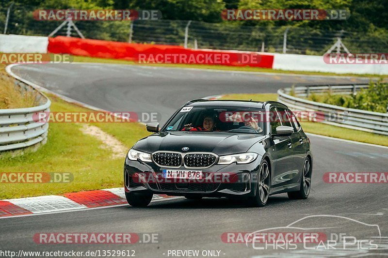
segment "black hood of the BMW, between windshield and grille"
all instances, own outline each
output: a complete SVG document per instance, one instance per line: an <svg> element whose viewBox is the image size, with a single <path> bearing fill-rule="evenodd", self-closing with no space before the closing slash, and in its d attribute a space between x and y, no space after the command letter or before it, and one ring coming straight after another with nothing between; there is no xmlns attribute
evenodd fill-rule
<svg viewBox="0 0 388 258"><path fill-rule="evenodd" d="M174 151L213 152L218 155L246 152L263 135L231 134L223 132L168 132L148 136L139 140L133 148L143 152Z"/></svg>

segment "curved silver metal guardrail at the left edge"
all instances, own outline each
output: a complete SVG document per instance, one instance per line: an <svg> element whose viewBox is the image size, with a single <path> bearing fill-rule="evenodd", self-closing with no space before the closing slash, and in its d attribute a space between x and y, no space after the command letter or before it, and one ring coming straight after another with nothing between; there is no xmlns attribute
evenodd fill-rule
<svg viewBox="0 0 388 258"><path fill-rule="evenodd" d="M32 86L16 80L22 92L37 91ZM34 114L49 112L51 101L38 92L39 106L0 109L0 152L26 148L47 140L49 123L35 122Z"/></svg>

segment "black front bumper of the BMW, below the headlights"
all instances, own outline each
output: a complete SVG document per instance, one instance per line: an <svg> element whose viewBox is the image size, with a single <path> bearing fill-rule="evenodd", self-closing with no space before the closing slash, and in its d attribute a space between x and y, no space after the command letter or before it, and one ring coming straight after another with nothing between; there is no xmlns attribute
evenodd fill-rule
<svg viewBox="0 0 388 258"><path fill-rule="evenodd" d="M213 165L201 170L203 180L164 179L162 169L154 163L131 161L124 164L126 192L165 194L168 196L202 196L247 198L255 196L260 156L250 164ZM190 170L185 167L176 170Z"/></svg>

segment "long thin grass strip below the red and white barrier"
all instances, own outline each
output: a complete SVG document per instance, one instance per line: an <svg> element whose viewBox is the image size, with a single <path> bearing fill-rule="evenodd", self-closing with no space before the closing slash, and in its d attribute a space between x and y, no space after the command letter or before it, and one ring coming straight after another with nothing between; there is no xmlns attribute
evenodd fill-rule
<svg viewBox="0 0 388 258"><path fill-rule="evenodd" d="M381 77L379 75L358 75L358 74L334 74L334 73L320 73L320 72L302 72L302 71L285 71L285 70L273 70L270 68L250 67L250 66L227 66L227 65L207 65L207 64L139 64L134 61L107 59L107 58L93 58L83 56L72 56L70 59L74 62L97 62L97 63L117 63L117 64L137 64L137 65L149 65L149 66L164 66L164 67L180 67L180 68L197 68L197 69L210 69L210 70L225 70L225 71L245 71L245 72L261 72L261 73L281 73L281 74L298 74L298 75L323 75L323 76L354 76L354 77Z"/></svg>

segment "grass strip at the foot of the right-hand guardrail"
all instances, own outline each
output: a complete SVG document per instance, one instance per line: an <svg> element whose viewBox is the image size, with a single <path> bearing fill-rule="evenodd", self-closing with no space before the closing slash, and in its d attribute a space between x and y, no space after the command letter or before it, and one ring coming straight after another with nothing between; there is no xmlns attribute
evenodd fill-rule
<svg viewBox="0 0 388 258"><path fill-rule="evenodd" d="M276 93L228 94L228 95L224 95L221 99L237 99L237 100L252 99L255 101L266 101L266 100L276 101L277 94ZM388 137L383 135L377 135L377 134L367 133L363 131L342 128L342 127L323 124L319 122L301 122L301 125L303 127L303 130L307 133L388 146Z"/></svg>

